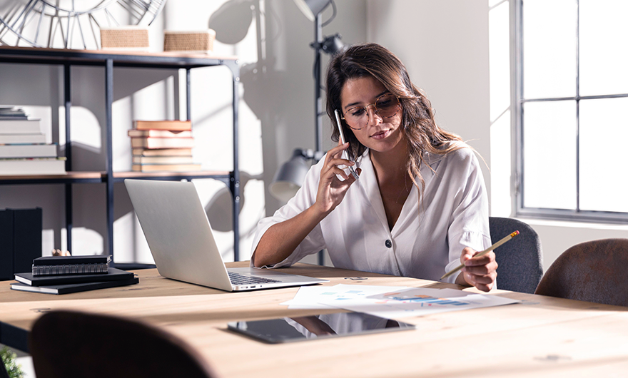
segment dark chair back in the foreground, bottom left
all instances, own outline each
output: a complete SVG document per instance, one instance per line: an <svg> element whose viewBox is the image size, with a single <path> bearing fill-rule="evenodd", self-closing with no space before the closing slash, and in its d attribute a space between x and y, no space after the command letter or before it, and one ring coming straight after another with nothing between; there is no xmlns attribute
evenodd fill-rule
<svg viewBox="0 0 628 378"><path fill-rule="evenodd" d="M134 320L52 311L29 334L37 378L216 377L173 334Z"/></svg>

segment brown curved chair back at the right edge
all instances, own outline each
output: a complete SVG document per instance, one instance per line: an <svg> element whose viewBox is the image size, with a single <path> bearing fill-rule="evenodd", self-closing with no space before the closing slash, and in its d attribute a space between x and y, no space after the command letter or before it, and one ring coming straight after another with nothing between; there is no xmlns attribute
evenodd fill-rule
<svg viewBox="0 0 628 378"><path fill-rule="evenodd" d="M628 306L628 239L570 247L545 272L535 294Z"/></svg>

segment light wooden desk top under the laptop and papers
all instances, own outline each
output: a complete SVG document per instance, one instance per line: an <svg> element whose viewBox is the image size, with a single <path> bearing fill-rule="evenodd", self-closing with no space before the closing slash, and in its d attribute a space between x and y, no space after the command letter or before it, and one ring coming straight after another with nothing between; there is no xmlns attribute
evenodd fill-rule
<svg viewBox="0 0 628 378"><path fill-rule="evenodd" d="M236 262L230 266L243 266ZM297 265L294 272L354 285L455 287L427 280ZM314 315L279 305L298 288L229 293L140 270L140 283L53 296L0 285L0 342L24 343L41 312L84 310L141 319L177 334L222 377L622 377L628 308L497 291L517 305L403 320L416 331L263 344L226 330L233 320ZM345 277L368 277L362 282ZM472 290L472 289L467 289Z"/></svg>

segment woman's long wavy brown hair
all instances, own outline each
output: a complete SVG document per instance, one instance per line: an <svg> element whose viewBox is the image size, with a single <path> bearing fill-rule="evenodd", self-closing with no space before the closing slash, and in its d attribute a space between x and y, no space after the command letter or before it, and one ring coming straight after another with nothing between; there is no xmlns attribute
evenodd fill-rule
<svg viewBox="0 0 628 378"><path fill-rule="evenodd" d="M378 44L357 44L346 48L333 56L327 68L327 113L333 123L332 140L338 141L340 132L335 125L334 110L340 110L340 93L345 83L353 78L371 76L380 81L393 95L399 98L402 108L401 130L407 141L407 173L412 183L419 189L419 203L425 181L420 167L423 154L444 155L463 148L460 136L443 130L434 121L432 104L410 81L405 66L395 54ZM350 143L350 155L360 156L366 150L365 145L355 138L353 131L345 125L345 138ZM420 183L420 184L419 184Z"/></svg>

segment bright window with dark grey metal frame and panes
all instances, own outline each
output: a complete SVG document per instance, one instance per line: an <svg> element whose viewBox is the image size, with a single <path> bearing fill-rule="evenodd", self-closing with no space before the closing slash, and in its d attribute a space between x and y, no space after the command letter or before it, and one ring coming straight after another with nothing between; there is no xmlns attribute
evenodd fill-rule
<svg viewBox="0 0 628 378"><path fill-rule="evenodd" d="M515 1L517 215L628 221L628 1Z"/></svg>

